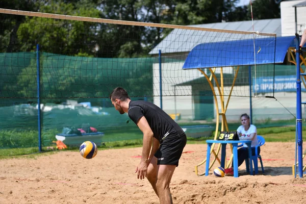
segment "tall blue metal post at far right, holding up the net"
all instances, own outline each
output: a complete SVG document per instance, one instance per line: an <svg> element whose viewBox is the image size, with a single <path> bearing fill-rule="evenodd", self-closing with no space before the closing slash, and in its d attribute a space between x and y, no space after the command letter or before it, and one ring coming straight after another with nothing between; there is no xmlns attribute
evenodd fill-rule
<svg viewBox="0 0 306 204"><path fill-rule="evenodd" d="M298 175L303 177L303 138L302 138L302 101L301 101L301 78L300 78L300 49L299 35L296 33L296 125L297 125L297 145L298 145Z"/></svg>

